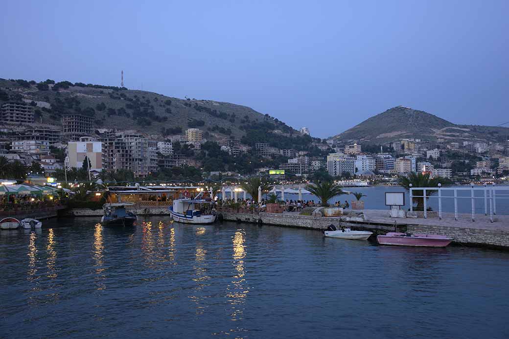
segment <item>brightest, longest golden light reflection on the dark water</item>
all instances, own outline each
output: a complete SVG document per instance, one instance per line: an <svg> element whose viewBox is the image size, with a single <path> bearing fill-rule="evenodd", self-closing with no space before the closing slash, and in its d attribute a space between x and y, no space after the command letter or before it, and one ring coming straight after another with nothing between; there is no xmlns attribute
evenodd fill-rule
<svg viewBox="0 0 509 339"><path fill-rule="evenodd" d="M244 303L248 288L245 286L244 278L244 258L246 256L246 248L244 246L245 238L243 231L236 231L233 237L233 260L236 274L233 276L232 285L228 287L227 296L230 298L232 305L232 320L242 318L243 308L240 306Z"/></svg>

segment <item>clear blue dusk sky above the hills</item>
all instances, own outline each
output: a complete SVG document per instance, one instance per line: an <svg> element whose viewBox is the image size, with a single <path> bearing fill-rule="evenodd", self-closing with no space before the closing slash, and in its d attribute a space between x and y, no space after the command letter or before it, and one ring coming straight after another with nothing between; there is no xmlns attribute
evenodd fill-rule
<svg viewBox="0 0 509 339"><path fill-rule="evenodd" d="M509 122L509 1L22 1L0 77L252 107L312 136L398 105ZM509 124L505 125L509 127Z"/></svg>

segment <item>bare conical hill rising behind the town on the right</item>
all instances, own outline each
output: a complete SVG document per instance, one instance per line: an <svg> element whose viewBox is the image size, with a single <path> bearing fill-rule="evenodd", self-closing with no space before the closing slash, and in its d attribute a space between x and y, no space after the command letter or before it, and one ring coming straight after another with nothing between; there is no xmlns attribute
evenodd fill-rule
<svg viewBox="0 0 509 339"><path fill-rule="evenodd" d="M504 142L509 128L456 125L433 114L409 107L392 107L333 136L343 142L383 144L402 138L435 141L486 140Z"/></svg>

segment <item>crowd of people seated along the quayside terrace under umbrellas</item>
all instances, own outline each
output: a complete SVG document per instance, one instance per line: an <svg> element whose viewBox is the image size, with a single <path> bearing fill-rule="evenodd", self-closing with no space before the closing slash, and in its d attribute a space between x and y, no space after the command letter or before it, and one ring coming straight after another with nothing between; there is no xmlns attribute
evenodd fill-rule
<svg viewBox="0 0 509 339"><path fill-rule="evenodd" d="M267 210L267 203L268 201L265 199L262 199L261 202L256 202L252 199L239 199L237 201L239 204L236 205L236 202L234 199L225 199L225 200L218 200L216 202L216 206L220 208L239 208L239 209L253 209L258 212L265 212ZM286 200L286 201L278 201L277 202L281 207L284 207L285 211L287 212L300 212L305 207L320 207L321 202L315 203L314 200ZM350 204L345 200L344 204L341 204L341 202L336 202L334 207L342 207L342 208L349 208Z"/></svg>

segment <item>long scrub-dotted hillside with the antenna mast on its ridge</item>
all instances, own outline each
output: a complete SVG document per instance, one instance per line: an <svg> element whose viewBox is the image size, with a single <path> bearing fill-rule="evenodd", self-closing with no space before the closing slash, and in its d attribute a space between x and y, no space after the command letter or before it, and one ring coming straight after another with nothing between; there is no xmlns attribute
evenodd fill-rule
<svg viewBox="0 0 509 339"><path fill-rule="evenodd" d="M162 138L192 127L204 130L209 140L240 139L259 129L300 136L278 119L246 106L81 82L0 79L0 104L7 100L31 102L36 123L55 128L61 128L63 115L78 113L93 117L95 128L136 130ZM260 136L259 142L264 138Z"/></svg>

